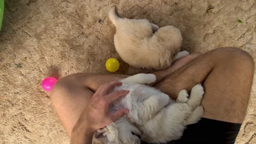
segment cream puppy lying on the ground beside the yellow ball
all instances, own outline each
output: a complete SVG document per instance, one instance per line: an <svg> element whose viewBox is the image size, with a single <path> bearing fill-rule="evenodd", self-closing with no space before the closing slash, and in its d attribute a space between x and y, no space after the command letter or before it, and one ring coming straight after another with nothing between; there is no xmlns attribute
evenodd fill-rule
<svg viewBox="0 0 256 144"><path fill-rule="evenodd" d="M159 28L146 19L120 18L115 13L115 7L110 9L109 19L117 28L114 35L115 50L133 67L165 69L173 61L189 54L187 51L178 53L182 44L178 28Z"/></svg>

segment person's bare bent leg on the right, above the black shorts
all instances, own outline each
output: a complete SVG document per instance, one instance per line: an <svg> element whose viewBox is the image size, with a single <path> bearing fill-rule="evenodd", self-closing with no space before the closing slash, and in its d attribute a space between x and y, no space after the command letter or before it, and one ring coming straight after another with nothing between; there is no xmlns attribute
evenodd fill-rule
<svg viewBox="0 0 256 144"><path fill-rule="evenodd" d="M230 123L242 123L253 81L252 57L240 49L227 47L204 53L193 62L174 71L155 87L176 97L182 89L203 83L203 117Z"/></svg>

